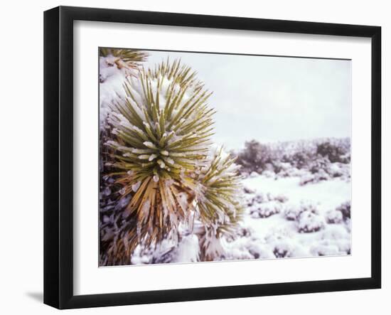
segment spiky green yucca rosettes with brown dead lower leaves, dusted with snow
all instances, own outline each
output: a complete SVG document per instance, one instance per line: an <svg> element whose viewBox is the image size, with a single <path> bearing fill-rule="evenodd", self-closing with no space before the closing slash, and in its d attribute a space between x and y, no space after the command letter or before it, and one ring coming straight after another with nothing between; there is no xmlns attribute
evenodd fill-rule
<svg viewBox="0 0 391 315"><path fill-rule="evenodd" d="M181 225L197 226L202 260L218 257L219 239L235 229L242 205L234 160L210 149L210 92L178 60L128 76L124 91L111 105L106 142L106 178L122 210L109 219L115 230L102 229L102 264L129 264L141 243L178 240Z"/></svg>

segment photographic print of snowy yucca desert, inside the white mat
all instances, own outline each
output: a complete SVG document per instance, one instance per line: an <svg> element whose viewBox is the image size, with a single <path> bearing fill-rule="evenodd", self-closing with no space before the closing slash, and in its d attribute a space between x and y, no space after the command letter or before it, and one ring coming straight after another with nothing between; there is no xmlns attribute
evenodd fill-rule
<svg viewBox="0 0 391 315"><path fill-rule="evenodd" d="M100 48L100 266L350 255L351 66Z"/></svg>

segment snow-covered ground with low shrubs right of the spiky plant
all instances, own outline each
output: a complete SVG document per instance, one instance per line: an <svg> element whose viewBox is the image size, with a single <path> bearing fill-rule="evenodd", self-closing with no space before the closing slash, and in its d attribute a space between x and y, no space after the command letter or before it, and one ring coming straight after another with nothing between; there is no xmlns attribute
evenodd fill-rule
<svg viewBox="0 0 391 315"><path fill-rule="evenodd" d="M300 182L300 177L245 178L242 235L224 241L223 259L349 255L350 181Z"/></svg>

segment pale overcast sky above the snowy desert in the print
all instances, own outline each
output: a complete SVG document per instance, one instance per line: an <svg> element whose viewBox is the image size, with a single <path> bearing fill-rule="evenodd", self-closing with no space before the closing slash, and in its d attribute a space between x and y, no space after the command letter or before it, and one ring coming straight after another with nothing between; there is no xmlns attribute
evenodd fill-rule
<svg viewBox="0 0 391 315"><path fill-rule="evenodd" d="M147 65L181 58L213 91L215 142L350 137L351 62L150 51Z"/></svg>

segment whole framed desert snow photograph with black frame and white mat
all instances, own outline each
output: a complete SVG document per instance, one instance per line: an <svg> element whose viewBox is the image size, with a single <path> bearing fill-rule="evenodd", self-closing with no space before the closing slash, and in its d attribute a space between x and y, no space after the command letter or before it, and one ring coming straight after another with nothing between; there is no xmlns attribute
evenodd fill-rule
<svg viewBox="0 0 391 315"><path fill-rule="evenodd" d="M44 302L381 286L379 26L44 15Z"/></svg>

